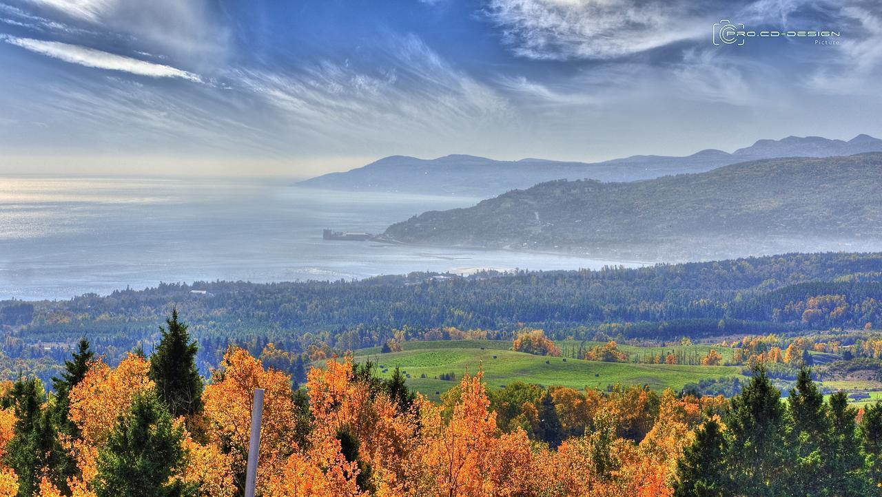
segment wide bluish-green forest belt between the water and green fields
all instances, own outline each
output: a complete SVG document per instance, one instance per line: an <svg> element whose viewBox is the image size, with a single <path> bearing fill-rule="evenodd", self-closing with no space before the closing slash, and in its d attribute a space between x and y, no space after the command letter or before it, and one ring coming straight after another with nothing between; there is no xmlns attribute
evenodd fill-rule
<svg viewBox="0 0 882 497"><path fill-rule="evenodd" d="M205 282L108 296L0 303L5 374L18 360L64 360L87 336L112 362L150 351L171 308L188 316L207 372L228 345L305 352L382 345L390 338L454 338L482 330L511 339L525 327L549 338L669 340L882 326L882 255L789 254L601 271L412 273L360 281ZM43 379L49 373L44 372Z"/></svg>

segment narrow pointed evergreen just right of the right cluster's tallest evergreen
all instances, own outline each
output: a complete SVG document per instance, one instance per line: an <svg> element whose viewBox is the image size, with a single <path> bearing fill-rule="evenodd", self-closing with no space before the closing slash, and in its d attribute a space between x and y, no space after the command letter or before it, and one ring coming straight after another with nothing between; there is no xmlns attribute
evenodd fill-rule
<svg viewBox="0 0 882 497"><path fill-rule="evenodd" d="M792 422L791 443L796 456L791 488L800 495L821 492L830 478L825 467L830 421L824 395L811 381L811 370L807 367L800 367L796 388L790 390L787 405Z"/></svg>

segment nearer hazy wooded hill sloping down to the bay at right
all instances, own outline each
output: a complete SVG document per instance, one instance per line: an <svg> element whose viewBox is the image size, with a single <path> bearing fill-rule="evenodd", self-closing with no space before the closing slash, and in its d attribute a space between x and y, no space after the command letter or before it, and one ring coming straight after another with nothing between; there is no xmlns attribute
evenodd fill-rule
<svg viewBox="0 0 882 497"><path fill-rule="evenodd" d="M396 241L732 256L882 240L882 153L765 159L642 182L545 182L390 226ZM699 241L702 254L691 250ZM740 244L750 244L739 248ZM848 243L856 244L848 246ZM729 249L729 252L726 250ZM735 252L731 252L735 250Z"/></svg>

